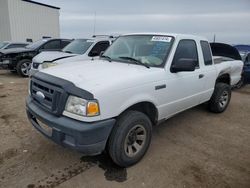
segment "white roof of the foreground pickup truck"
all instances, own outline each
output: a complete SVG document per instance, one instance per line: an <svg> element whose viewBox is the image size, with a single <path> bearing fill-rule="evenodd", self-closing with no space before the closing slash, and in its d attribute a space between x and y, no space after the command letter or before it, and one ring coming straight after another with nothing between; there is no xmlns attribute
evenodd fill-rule
<svg viewBox="0 0 250 188"><path fill-rule="evenodd" d="M166 36L173 36L174 38L186 38L186 39L198 39L198 40L206 40L205 37L199 35L190 35L190 34L181 34L181 33L159 33L159 32L149 32L149 33L128 33L121 36L128 36L128 35L166 35Z"/></svg>

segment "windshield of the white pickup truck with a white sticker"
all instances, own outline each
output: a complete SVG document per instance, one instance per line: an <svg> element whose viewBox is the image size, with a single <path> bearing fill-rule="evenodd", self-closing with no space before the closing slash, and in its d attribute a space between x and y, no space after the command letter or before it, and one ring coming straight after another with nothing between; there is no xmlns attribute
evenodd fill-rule
<svg viewBox="0 0 250 188"><path fill-rule="evenodd" d="M109 60L162 67L173 43L171 36L128 35L119 37L103 54ZM134 60L134 61L133 61Z"/></svg>

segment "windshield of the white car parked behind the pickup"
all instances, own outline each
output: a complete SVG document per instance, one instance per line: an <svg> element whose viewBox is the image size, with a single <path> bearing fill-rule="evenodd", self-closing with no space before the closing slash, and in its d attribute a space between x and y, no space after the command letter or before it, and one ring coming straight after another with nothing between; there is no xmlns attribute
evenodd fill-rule
<svg viewBox="0 0 250 188"><path fill-rule="evenodd" d="M73 54L84 54L93 42L93 40L88 39L76 39L63 48L62 51Z"/></svg>

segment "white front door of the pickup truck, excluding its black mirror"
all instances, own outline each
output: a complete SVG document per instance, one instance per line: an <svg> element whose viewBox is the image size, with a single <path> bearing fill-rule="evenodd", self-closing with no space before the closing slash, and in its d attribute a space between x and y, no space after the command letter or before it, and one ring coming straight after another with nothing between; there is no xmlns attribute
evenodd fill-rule
<svg viewBox="0 0 250 188"><path fill-rule="evenodd" d="M171 72L173 66L179 59L194 59L196 68L191 72ZM170 69L166 71L166 89L161 101L164 114L170 117L180 111L199 104L204 90L204 72L199 61L197 44L194 40L180 40L177 46Z"/></svg>

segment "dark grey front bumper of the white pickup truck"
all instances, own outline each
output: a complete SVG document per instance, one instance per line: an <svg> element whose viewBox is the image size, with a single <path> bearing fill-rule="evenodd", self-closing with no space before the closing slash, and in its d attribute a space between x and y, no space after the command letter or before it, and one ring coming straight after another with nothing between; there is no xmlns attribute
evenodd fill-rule
<svg viewBox="0 0 250 188"><path fill-rule="evenodd" d="M26 100L26 111L32 125L44 136L86 155L100 154L105 149L115 124L115 119L87 123L65 116L57 117L39 108L31 97ZM37 120L52 128L52 134L49 135Z"/></svg>

